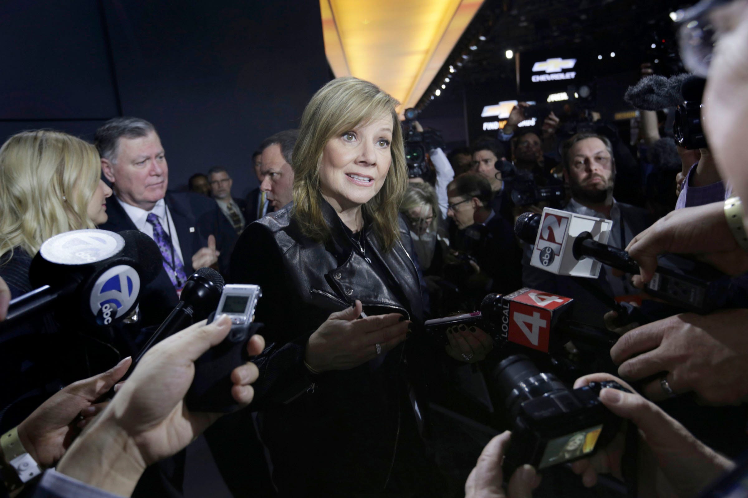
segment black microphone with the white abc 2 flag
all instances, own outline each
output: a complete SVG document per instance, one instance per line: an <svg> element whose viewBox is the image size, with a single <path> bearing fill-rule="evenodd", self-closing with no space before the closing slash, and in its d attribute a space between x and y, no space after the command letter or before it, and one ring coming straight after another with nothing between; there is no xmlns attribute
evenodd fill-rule
<svg viewBox="0 0 748 498"><path fill-rule="evenodd" d="M592 229L585 230L591 220ZM608 246L602 223L609 220L583 217L582 215L545 208L543 214L525 213L518 217L515 233L524 242L534 244L530 264L556 275L597 278L600 263L626 273L639 273L639 265L623 249ZM592 234L597 233L595 237ZM597 238L598 240L595 240ZM598 267L589 273L580 271L579 264L595 261ZM731 278L708 264L693 261L679 255L661 255L657 258L657 270L645 290L652 296L688 311L707 314L724 308L729 302ZM593 293L596 294L596 293Z"/></svg>

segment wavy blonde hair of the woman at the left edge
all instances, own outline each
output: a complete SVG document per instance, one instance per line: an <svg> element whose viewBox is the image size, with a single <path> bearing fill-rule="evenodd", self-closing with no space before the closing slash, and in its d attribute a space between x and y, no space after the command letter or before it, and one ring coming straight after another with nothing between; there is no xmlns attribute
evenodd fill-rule
<svg viewBox="0 0 748 498"><path fill-rule="evenodd" d="M67 133L22 131L0 148L0 255L33 256L64 231L96 228L88 203L99 185L96 147Z"/></svg>

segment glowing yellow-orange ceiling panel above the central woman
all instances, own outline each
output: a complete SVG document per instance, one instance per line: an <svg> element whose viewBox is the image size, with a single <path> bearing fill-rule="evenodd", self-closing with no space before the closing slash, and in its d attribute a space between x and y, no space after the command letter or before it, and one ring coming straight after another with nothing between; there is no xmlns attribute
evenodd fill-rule
<svg viewBox="0 0 748 498"><path fill-rule="evenodd" d="M483 0L320 0L335 76L372 81L413 107Z"/></svg>

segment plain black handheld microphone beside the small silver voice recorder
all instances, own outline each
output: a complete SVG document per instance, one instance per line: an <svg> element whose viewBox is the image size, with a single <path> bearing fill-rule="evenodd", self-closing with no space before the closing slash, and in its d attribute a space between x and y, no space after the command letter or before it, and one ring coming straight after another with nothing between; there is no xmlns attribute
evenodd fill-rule
<svg viewBox="0 0 748 498"><path fill-rule="evenodd" d="M160 252L159 258L161 258ZM159 266L162 264L161 261L159 259ZM180 302L138 352L130 370L135 368L135 364L143 358L153 344L186 329L195 322L206 319L218 306L223 290L224 278L221 273L208 267L200 268L193 273L182 289Z"/></svg>

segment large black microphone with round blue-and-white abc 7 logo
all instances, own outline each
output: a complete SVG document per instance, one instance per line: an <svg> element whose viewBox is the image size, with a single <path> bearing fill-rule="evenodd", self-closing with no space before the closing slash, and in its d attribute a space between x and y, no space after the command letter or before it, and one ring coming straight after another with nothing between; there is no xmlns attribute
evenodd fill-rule
<svg viewBox="0 0 748 498"><path fill-rule="evenodd" d="M29 268L37 288L10 302L0 330L52 305L96 325L111 325L138 305L141 285L159 274L150 262L154 255L161 258L156 243L136 230L84 229L50 237Z"/></svg>

